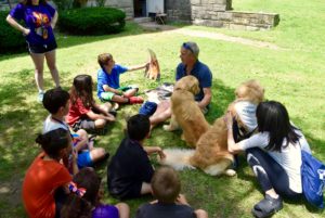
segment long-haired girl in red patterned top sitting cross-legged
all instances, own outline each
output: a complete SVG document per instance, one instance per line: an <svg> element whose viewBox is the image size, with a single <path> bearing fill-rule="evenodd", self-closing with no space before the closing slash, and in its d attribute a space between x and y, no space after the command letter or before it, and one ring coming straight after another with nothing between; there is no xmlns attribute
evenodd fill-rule
<svg viewBox="0 0 325 218"><path fill-rule="evenodd" d="M93 100L92 87L93 82L89 75L78 75L74 79L66 121L75 131L101 129L107 121L115 121L115 117L108 113L112 104L108 102L96 104Z"/></svg>

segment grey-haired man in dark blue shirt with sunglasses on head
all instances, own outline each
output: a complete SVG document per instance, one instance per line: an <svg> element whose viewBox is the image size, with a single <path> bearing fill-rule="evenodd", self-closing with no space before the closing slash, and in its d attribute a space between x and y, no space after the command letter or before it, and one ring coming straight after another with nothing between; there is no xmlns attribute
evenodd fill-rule
<svg viewBox="0 0 325 218"><path fill-rule="evenodd" d="M212 93L212 74L207 65L198 61L199 49L195 42L184 42L181 47L181 63L177 67L176 80L184 76L195 76L199 82L200 92L195 95L198 106L204 114L208 112ZM158 105L157 112L151 117L152 127L171 117L170 102L165 101Z"/></svg>

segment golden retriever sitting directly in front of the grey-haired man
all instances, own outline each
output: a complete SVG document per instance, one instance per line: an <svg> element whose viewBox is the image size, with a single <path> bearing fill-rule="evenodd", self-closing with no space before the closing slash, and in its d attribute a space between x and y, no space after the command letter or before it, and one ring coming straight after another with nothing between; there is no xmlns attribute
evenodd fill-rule
<svg viewBox="0 0 325 218"><path fill-rule="evenodd" d="M177 81L171 94L171 121L165 130L172 130L177 125L183 130L182 140L195 148L200 136L209 129L204 114L194 100L199 92L198 80L194 76L185 76Z"/></svg>

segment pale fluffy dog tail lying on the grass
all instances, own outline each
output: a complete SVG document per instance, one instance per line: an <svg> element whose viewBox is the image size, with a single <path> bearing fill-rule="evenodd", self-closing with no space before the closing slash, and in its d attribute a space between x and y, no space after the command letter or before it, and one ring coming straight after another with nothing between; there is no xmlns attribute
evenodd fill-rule
<svg viewBox="0 0 325 218"><path fill-rule="evenodd" d="M166 158L159 159L161 165L168 165L176 170L195 169L190 164L190 158L194 155L195 150L185 149L166 149L164 150Z"/></svg>

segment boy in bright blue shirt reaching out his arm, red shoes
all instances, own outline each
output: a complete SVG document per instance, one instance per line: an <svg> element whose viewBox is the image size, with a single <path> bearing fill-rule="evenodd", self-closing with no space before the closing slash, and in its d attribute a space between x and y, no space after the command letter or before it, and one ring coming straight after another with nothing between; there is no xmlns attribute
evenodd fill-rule
<svg viewBox="0 0 325 218"><path fill-rule="evenodd" d="M98 97L101 100L131 104L143 102L142 98L134 97L138 92L138 88L119 86L119 75L126 72L145 68L147 63L139 66L125 67L115 64L109 53L100 54L98 62L101 66L101 69L98 72Z"/></svg>

